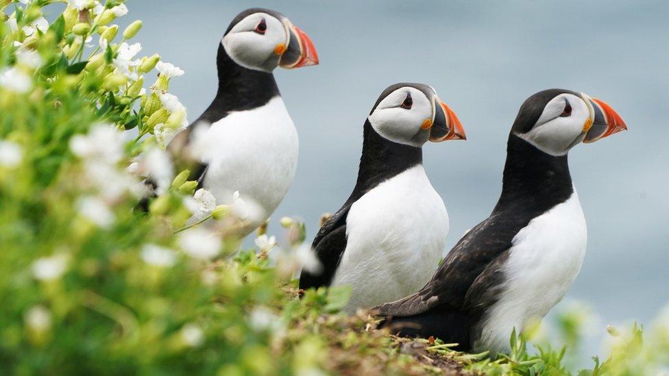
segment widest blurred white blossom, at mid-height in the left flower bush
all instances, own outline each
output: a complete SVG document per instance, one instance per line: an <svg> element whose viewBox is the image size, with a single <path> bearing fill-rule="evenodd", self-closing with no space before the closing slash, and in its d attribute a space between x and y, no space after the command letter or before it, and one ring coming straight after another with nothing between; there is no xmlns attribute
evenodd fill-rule
<svg viewBox="0 0 669 376"><path fill-rule="evenodd" d="M81 158L97 159L110 164L123 158L123 133L110 124L93 126L87 135L70 140L71 151Z"/></svg>

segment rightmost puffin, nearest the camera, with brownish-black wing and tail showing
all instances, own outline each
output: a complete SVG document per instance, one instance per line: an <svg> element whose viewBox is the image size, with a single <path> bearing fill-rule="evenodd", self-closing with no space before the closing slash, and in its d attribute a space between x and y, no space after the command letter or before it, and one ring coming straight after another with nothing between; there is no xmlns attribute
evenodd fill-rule
<svg viewBox="0 0 669 376"><path fill-rule="evenodd" d="M421 290L373 309L380 327L457 342L462 351L508 352L513 330L543 318L583 263L587 229L568 152L625 129L600 99L561 89L529 97L511 127L490 216L467 231Z"/></svg>

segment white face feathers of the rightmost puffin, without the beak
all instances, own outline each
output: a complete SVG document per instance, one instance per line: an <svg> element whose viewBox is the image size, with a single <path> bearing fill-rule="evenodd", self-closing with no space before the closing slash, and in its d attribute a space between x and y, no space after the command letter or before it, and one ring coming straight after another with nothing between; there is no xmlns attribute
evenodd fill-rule
<svg viewBox="0 0 669 376"><path fill-rule="evenodd" d="M572 107L572 113L569 116L560 116L567 103ZM564 93L546 104L544 112L530 131L518 136L544 153L565 155L583 140L583 125L589 114L581 97Z"/></svg>

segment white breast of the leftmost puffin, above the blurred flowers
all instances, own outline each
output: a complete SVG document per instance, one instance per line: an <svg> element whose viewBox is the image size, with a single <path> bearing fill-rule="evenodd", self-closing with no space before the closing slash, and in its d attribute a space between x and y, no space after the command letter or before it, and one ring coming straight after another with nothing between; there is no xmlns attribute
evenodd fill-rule
<svg viewBox="0 0 669 376"><path fill-rule="evenodd" d="M274 97L263 107L232 112L213 123L206 138L204 188L217 204L232 203L232 193L239 191L245 201L263 208L248 233L269 217L293 183L298 149L293 121L281 97Z"/></svg>

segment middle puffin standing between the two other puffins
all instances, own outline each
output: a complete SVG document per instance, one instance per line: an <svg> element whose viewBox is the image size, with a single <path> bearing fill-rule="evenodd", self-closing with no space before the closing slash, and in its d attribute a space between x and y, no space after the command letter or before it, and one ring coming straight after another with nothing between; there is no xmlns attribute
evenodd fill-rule
<svg viewBox="0 0 669 376"><path fill-rule="evenodd" d="M300 289L350 286L343 311L353 313L424 286L441 258L448 213L426 175L422 146L465 138L430 86L385 89L363 126L353 192L313 240L321 268L303 270Z"/></svg>

